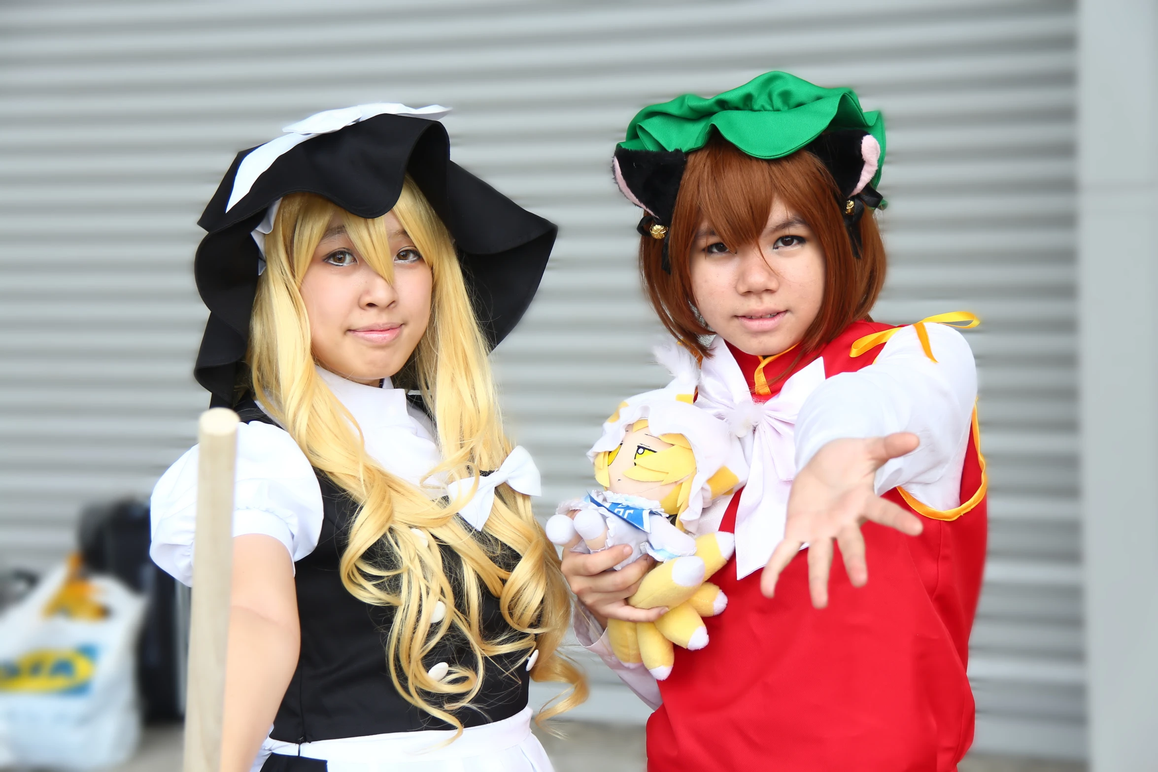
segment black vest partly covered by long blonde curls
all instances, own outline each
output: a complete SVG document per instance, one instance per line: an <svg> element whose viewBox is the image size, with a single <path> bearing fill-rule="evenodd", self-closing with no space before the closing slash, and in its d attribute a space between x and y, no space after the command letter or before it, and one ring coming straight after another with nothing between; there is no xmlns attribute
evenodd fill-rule
<svg viewBox="0 0 1158 772"><path fill-rule="evenodd" d="M243 402L235 410L242 421L273 424L252 400ZM322 488L322 532L317 547L294 564L301 653L270 736L283 742L306 743L393 731L453 729L449 723L408 703L394 688L386 661L386 638L395 609L362 603L343 587L339 578L338 565L357 505L324 475L317 473L317 483ZM481 534L478 538L486 537ZM489 546L497 546L497 561L505 568L519 560L518 553L500 542L494 541ZM439 549L442 565L452 573L461 566L453 549L445 544L439 544ZM456 586L453 575L452 586ZM461 594L456 591L455 596L460 610L464 610ZM503 618L498 598L485 588L481 617L485 640L515 632ZM425 659L427 669L438 662L474 668L469 646L456 637L461 633L452 627ZM525 655L526 652L520 650L484 660L482 688L469 707L454 712L464 727L507 719L527 706L530 677L520 662ZM439 705L441 696L426 697L432 705Z"/></svg>

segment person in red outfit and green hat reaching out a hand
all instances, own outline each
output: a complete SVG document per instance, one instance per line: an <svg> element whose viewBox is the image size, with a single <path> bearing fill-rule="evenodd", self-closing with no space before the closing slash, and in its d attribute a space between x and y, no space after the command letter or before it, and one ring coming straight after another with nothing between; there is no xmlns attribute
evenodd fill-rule
<svg viewBox="0 0 1158 772"><path fill-rule="evenodd" d="M628 602L646 567L563 559L580 642L655 708L651 772L952 772L972 742L987 484L973 354L950 324L976 319L870 318L884 157L884 120L851 89L778 72L650 105L615 150L646 292L701 359L694 406L749 468L697 523L734 535L712 578L727 612L666 679L608 634L654 619Z"/></svg>

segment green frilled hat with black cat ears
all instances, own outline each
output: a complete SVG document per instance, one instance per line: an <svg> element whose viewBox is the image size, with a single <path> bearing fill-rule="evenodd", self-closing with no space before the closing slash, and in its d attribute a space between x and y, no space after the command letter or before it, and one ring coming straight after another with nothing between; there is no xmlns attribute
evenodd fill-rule
<svg viewBox="0 0 1158 772"><path fill-rule="evenodd" d="M642 234L667 235L687 154L706 145L713 132L757 159L797 150L816 155L836 182L836 200L859 253L853 226L865 207L882 204L874 185L885 160L885 120L862 110L850 88L821 88L782 72L711 98L684 94L631 119L626 139L615 148L613 172L623 194L646 212Z"/></svg>

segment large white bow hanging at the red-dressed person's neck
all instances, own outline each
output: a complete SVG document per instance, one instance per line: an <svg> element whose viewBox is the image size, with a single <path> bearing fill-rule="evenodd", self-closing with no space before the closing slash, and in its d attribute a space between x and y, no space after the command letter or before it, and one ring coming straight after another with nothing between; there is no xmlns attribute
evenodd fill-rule
<svg viewBox="0 0 1158 772"><path fill-rule="evenodd" d="M805 400L824 382L824 361L816 359L758 404L732 353L724 345L712 348L712 356L704 359L696 405L728 421L743 443L748 483L735 513L736 578L743 579L763 568L784 539L797 473L796 422Z"/></svg>

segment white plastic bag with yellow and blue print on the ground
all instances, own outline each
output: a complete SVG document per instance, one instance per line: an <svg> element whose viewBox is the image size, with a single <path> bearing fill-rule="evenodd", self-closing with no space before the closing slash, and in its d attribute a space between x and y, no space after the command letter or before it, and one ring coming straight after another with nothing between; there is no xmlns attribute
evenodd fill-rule
<svg viewBox="0 0 1158 772"><path fill-rule="evenodd" d="M135 641L145 601L73 558L0 616L0 727L9 763L122 764L140 738ZM0 756L3 742L0 741Z"/></svg>

